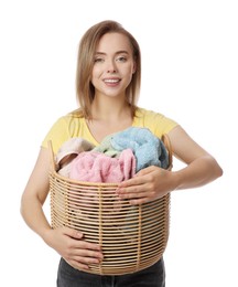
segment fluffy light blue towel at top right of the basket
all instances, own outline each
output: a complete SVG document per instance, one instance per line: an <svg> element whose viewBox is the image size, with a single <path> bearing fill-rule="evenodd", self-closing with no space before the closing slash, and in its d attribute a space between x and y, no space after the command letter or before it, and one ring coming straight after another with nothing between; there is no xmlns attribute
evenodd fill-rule
<svg viewBox="0 0 238 287"><path fill-rule="evenodd" d="M132 149L137 159L137 172L149 166L163 169L169 167L169 155L163 141L148 128L130 127L118 132L111 137L111 146L120 151Z"/></svg>

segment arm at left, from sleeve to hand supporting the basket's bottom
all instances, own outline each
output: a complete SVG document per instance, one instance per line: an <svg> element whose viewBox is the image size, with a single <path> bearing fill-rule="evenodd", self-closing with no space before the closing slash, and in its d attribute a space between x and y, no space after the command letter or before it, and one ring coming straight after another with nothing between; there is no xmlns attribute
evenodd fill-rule
<svg viewBox="0 0 238 287"><path fill-rule="evenodd" d="M21 200L21 214L25 223L53 247L73 267L87 269L88 264L102 258L100 247L84 241L83 234L68 227L53 230L43 212L48 194L48 150L42 148Z"/></svg>

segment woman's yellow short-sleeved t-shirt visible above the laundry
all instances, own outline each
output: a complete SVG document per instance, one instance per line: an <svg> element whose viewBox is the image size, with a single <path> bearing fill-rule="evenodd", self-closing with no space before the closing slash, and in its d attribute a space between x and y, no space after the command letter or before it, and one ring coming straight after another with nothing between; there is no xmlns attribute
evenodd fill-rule
<svg viewBox="0 0 238 287"><path fill-rule="evenodd" d="M162 114L144 108L137 109L132 121L132 127L149 128L158 138L161 138L162 135L167 134L175 126L177 126L177 123L174 120ZM44 138L42 147L47 148L47 142L51 140L53 151L56 153L64 141L75 137L84 138L95 146L100 144L90 134L84 117L68 114L56 120Z"/></svg>

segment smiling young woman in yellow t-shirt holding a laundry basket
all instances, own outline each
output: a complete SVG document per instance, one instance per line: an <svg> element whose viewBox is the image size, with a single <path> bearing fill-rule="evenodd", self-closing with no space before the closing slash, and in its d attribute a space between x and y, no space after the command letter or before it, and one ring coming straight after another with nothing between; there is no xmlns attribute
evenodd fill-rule
<svg viewBox="0 0 238 287"><path fill-rule="evenodd" d="M128 127L147 127L161 138L167 134L174 156L186 163L178 171L151 166L120 183L117 193L131 204L153 201L169 192L207 184L223 174L217 161L174 120L137 106L141 57L134 38L115 21L91 26L78 51L76 87L79 109L56 120L50 129L25 187L21 213L26 224L61 255L57 286L165 286L163 259L134 274L99 276L87 273L88 264L104 258L100 246L84 240L82 232L53 230L43 213L48 194L48 139L56 153L63 142L82 137L98 146Z"/></svg>

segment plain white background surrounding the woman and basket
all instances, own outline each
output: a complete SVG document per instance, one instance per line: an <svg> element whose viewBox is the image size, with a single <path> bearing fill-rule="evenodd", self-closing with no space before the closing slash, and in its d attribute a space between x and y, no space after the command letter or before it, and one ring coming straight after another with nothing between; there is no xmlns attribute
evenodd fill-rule
<svg viewBox="0 0 238 287"><path fill-rule="evenodd" d="M58 255L25 225L20 198L46 131L76 108L79 39L106 19L141 45L139 105L178 121L224 169L172 195L166 287L238 286L236 2L0 1L1 286L55 286Z"/></svg>

